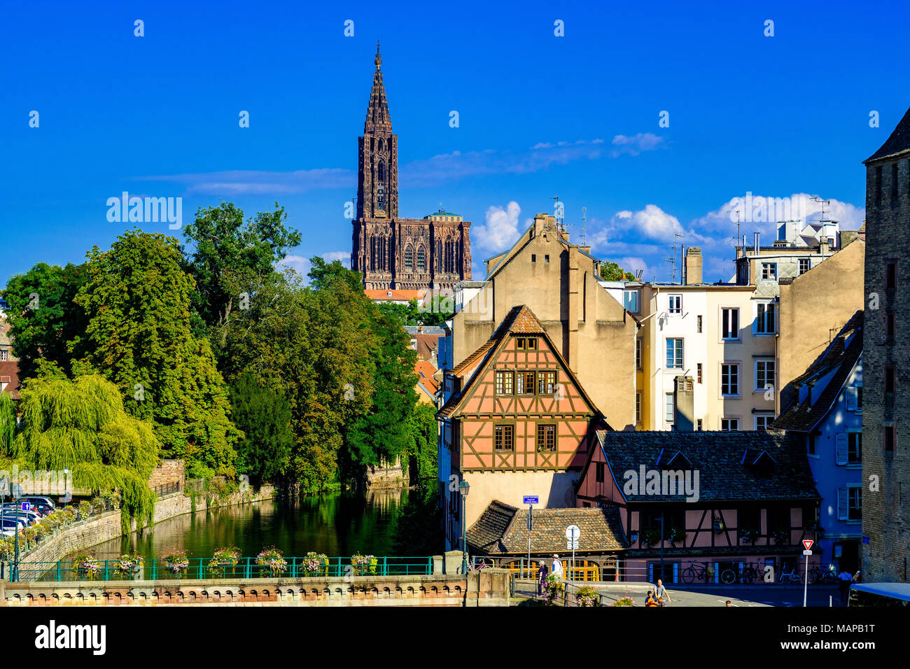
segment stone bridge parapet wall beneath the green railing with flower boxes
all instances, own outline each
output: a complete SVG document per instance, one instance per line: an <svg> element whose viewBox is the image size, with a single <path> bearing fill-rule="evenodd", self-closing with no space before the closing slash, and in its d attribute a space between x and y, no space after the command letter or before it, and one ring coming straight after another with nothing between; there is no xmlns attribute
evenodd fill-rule
<svg viewBox="0 0 910 669"><path fill-rule="evenodd" d="M9 606L508 606L504 569L426 576L0 583Z"/></svg>

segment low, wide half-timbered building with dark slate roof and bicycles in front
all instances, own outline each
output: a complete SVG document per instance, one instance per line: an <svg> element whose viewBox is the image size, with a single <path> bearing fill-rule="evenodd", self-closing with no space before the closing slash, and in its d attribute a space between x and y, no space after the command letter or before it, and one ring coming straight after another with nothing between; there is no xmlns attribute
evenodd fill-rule
<svg viewBox="0 0 910 669"><path fill-rule="evenodd" d="M779 582L817 540L804 443L782 433L597 431L577 499L619 509L624 580Z"/></svg>

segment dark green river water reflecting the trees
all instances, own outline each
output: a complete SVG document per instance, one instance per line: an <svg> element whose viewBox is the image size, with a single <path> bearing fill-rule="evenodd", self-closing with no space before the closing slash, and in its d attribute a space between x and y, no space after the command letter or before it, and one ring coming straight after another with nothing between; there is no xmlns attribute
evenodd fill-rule
<svg viewBox="0 0 910 669"><path fill-rule="evenodd" d="M256 502L186 513L158 522L141 535L99 543L91 550L99 560L116 560L131 550L148 559L176 550L185 550L190 558L204 558L223 546L237 546L245 556L268 546L288 557L309 551L389 555L407 495L401 489L332 492L303 497L289 508L277 502Z"/></svg>

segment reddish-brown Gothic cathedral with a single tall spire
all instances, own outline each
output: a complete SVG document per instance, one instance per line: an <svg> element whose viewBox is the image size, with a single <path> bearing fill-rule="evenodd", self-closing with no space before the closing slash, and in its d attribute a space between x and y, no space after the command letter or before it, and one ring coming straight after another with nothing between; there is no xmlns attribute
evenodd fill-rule
<svg viewBox="0 0 910 669"><path fill-rule="evenodd" d="M375 63L359 137L350 269L360 272L365 289L449 291L470 280L470 221L442 208L423 218L399 218L398 136L392 133L379 45Z"/></svg>

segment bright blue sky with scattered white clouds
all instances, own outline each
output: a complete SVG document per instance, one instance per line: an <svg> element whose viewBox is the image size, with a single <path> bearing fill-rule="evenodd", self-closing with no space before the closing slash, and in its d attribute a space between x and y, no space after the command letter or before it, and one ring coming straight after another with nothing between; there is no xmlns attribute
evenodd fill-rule
<svg viewBox="0 0 910 669"><path fill-rule="evenodd" d="M304 238L288 264L347 258L378 37L400 215L441 202L473 221L475 279L553 196L573 240L585 207L595 255L645 279L670 278L674 232L703 248L705 280L729 279L729 203L747 192L817 194L859 226L861 162L910 106L894 38L910 2L630 5L7 3L0 285L108 248L133 227L107 220L123 191L183 198L184 222L278 201Z"/></svg>

